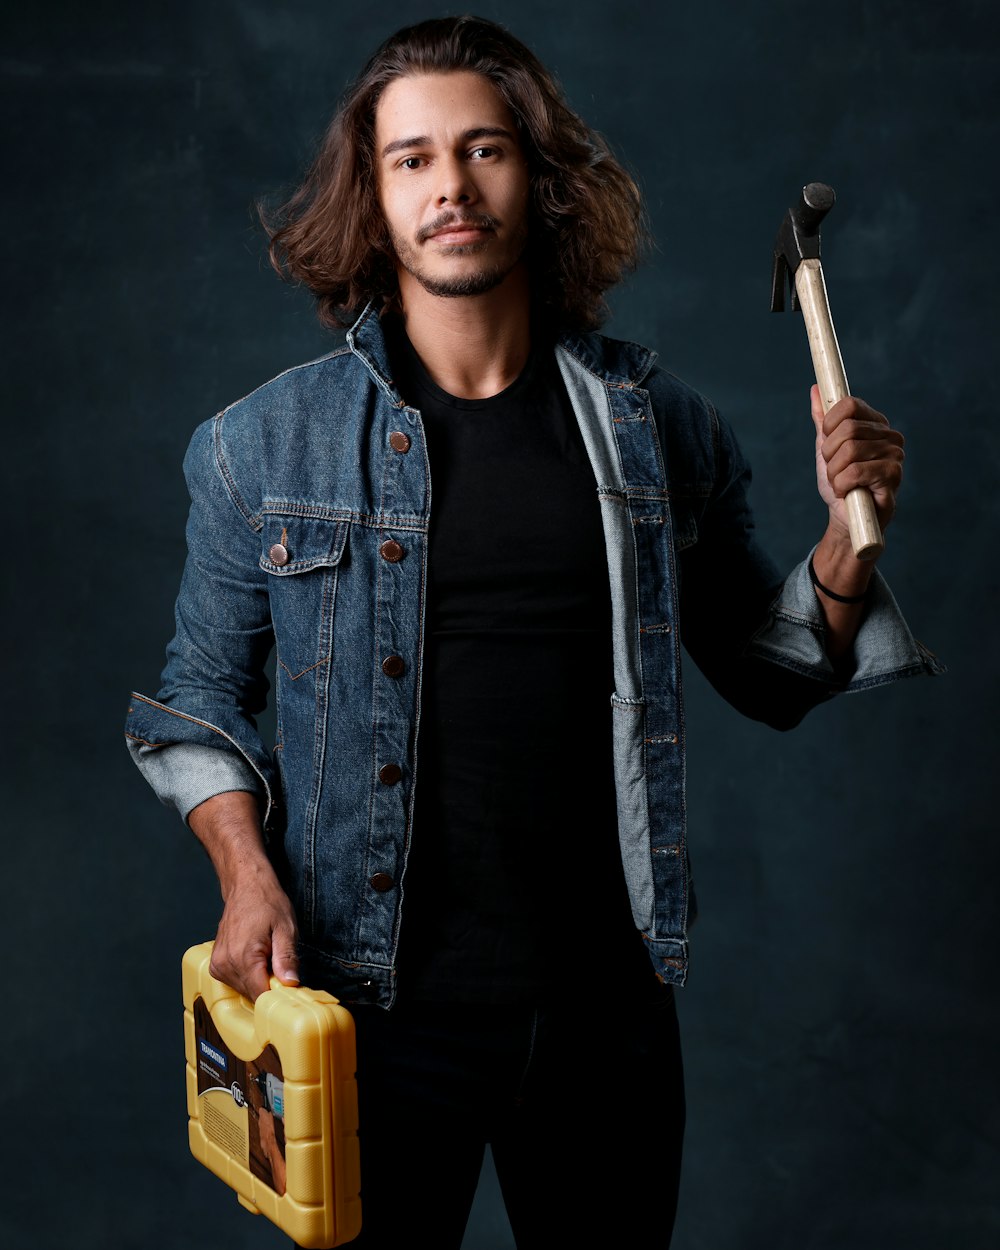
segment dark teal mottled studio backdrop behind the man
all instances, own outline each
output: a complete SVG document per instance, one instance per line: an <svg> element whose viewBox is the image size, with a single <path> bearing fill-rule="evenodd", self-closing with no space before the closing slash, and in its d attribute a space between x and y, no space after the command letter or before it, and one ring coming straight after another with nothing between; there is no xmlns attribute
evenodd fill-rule
<svg viewBox="0 0 1000 1250"><path fill-rule="evenodd" d="M789 736L689 676L702 919L675 1248L992 1250L995 8L479 8L636 171L658 249L609 330L732 420L786 564L824 518L805 334L768 312L770 254L801 184L836 188L824 258L848 374L909 440L881 568L950 668ZM5 9L0 1240L280 1245L186 1152L180 956L220 904L121 722L170 634L192 426L329 342L269 271L251 201L298 176L374 46L432 10ZM609 995L585 966L561 975L596 1068ZM485 1188L468 1245L508 1239Z"/></svg>

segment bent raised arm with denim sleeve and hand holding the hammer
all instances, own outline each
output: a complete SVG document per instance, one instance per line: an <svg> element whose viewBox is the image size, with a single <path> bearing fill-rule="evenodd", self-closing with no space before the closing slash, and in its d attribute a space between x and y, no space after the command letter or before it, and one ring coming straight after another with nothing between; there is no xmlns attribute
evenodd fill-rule
<svg viewBox="0 0 1000 1250"><path fill-rule="evenodd" d="M851 596L868 588L865 602L856 605L822 602L810 582L806 561L782 581L756 540L748 500L749 465L729 425L709 409L714 480L696 511L696 541L680 552L678 561L681 636L724 699L775 729L791 729L811 708L839 691L868 690L901 678L944 671L914 639L879 572L854 559L842 521L842 496L859 481L878 485L880 494L885 492L876 506L881 522L888 524L899 464L896 469L879 469L878 464L896 456L901 462L902 440L891 438L895 450L876 456L868 468L858 446L862 441L858 429L844 422L869 424L869 432L875 434L888 425L860 401L842 402L846 408L835 405L826 419L818 414L818 462L822 464L819 485L830 519L814 568L838 594ZM870 416L861 421L856 414ZM820 425L826 429L820 431ZM856 436L848 438L849 431ZM872 451L884 440L866 441L871 446L864 450ZM830 474L835 488L829 485ZM886 476L884 488L876 481L880 475ZM675 510L692 506L682 490L676 494ZM841 612L841 608L848 610Z"/></svg>

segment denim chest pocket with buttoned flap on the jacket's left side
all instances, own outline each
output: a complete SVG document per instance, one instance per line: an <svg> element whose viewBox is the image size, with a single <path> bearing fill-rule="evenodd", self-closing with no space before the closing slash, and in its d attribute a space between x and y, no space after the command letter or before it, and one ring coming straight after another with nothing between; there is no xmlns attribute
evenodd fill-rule
<svg viewBox="0 0 1000 1250"><path fill-rule="evenodd" d="M260 568L269 575L280 678L299 681L330 659L338 571L349 521L269 514L261 530Z"/></svg>

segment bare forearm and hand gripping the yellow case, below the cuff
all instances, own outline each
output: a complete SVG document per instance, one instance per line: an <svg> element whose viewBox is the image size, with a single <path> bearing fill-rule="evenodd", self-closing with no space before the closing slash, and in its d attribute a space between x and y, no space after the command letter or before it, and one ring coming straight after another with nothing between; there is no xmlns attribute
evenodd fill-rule
<svg viewBox="0 0 1000 1250"><path fill-rule="evenodd" d="M245 790L214 795L188 822L222 894L211 975L251 1001L269 988L270 971L284 985L298 985L295 912L264 849L256 796Z"/></svg>

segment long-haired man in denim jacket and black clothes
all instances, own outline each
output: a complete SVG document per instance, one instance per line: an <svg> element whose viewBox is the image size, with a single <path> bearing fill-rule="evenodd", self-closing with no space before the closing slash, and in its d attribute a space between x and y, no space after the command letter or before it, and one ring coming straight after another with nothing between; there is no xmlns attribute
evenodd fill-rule
<svg viewBox="0 0 1000 1250"><path fill-rule="evenodd" d="M348 342L186 460L178 632L130 744L218 870L215 975L352 1006L365 1245L460 1245L485 1141L519 1246L650 1218L669 1242L679 639L784 728L934 668L844 516L862 485L890 521L901 436L814 394L829 525L782 582L711 405L591 332L641 239L634 182L524 45L400 31L272 235Z"/></svg>

